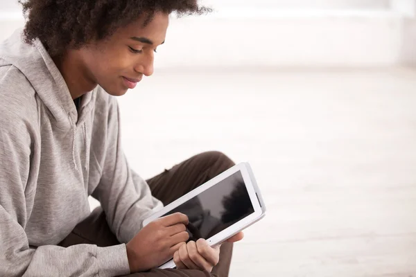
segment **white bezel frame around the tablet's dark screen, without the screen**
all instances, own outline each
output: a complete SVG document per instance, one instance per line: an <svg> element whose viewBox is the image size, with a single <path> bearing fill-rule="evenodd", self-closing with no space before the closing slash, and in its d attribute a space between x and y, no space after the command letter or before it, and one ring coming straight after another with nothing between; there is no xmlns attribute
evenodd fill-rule
<svg viewBox="0 0 416 277"><path fill-rule="evenodd" d="M224 242L228 238L231 238L236 233L239 233L239 231L242 231L243 229L247 228L251 224L254 224L254 222L257 222L258 220L260 220L266 214L266 207L264 206L263 198L261 197L259 187L257 186L257 182L254 179L254 175L252 173L250 164L247 162L239 163L236 166L229 168L228 170L221 173L220 175L207 181L205 184L202 184L198 188L192 190L186 195L183 195L179 199L176 199L174 202L172 202L171 204L168 204L167 206L157 211L156 213L153 213L153 215L150 215L148 218L146 218L143 221L143 226L146 226L153 220L156 220L162 215L168 213L169 211L172 211L177 206L180 206L180 204L187 202L189 199L195 197L196 195L199 195L200 193L207 190L208 188L211 188L211 186L215 186L220 181L223 181L224 179L233 175L237 171L241 172L241 176L243 177L245 188L248 191L250 201L254 208L254 213L251 213L250 215L248 215L247 217L244 217L239 222L232 224L231 226L227 227L223 231L220 231L219 233L212 236L211 238L208 238L207 242L209 243L210 246L214 246L216 244ZM171 262L164 264L164 267L159 267L159 268L173 267L174 263L172 264L172 262L173 260L171 260Z"/></svg>

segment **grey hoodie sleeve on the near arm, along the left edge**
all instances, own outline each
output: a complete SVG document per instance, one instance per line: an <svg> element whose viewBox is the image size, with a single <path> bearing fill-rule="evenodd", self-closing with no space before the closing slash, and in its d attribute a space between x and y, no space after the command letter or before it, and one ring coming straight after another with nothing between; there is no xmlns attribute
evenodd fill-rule
<svg viewBox="0 0 416 277"><path fill-rule="evenodd" d="M8 74L0 67L0 76ZM9 72L10 73L10 72ZM19 98L21 83L0 79L0 276L116 276L129 273L125 244L32 247L31 217L40 161L36 110ZM14 87L12 93L7 87ZM26 89L27 91L27 89Z"/></svg>

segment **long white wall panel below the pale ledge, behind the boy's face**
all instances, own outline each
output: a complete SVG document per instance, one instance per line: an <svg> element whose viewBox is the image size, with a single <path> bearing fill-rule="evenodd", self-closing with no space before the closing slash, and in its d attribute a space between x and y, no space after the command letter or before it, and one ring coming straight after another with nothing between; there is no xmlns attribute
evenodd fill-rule
<svg viewBox="0 0 416 277"><path fill-rule="evenodd" d="M386 66L399 60L399 17L305 16L173 21L157 66Z"/></svg>

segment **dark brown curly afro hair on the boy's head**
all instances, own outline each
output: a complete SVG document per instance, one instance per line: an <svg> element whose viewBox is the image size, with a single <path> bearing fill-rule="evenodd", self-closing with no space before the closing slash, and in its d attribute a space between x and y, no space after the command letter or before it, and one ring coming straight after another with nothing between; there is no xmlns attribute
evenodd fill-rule
<svg viewBox="0 0 416 277"><path fill-rule="evenodd" d="M26 17L24 35L31 44L39 38L51 56L68 48L109 37L120 27L155 12L201 15L211 9L198 0L19 0Z"/></svg>

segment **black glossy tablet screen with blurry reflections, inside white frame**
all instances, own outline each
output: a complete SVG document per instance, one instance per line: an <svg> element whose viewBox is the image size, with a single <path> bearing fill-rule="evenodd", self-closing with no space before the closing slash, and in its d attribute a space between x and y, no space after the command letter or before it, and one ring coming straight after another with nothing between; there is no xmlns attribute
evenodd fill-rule
<svg viewBox="0 0 416 277"><path fill-rule="evenodd" d="M211 238L254 213L254 208L243 176L237 171L165 215L177 212L189 217L189 240L196 241Z"/></svg>

